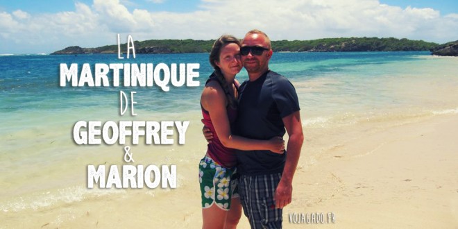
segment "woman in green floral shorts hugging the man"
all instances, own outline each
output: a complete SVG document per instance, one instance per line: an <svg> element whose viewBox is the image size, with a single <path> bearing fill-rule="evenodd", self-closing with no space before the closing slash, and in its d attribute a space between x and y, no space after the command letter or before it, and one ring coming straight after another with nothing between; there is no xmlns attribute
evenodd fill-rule
<svg viewBox="0 0 458 229"><path fill-rule="evenodd" d="M235 150L267 149L283 153L281 137L269 140L247 139L232 135L230 126L237 115L235 75L241 70L240 42L231 35L216 40L210 51L214 72L205 83L201 96L203 122L213 133L212 142L199 164L202 194L203 228L236 228L241 204L235 180Z"/></svg>

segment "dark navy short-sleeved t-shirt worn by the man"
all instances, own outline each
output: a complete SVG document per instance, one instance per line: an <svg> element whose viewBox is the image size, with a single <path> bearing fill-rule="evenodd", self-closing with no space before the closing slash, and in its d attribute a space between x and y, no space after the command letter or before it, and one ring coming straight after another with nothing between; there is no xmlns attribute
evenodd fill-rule
<svg viewBox="0 0 458 229"><path fill-rule="evenodd" d="M239 88L239 106L235 132L253 139L271 139L285 135L282 118L300 110L294 86L280 74L267 71L255 81ZM237 150L237 172L242 175L281 173L286 153Z"/></svg>

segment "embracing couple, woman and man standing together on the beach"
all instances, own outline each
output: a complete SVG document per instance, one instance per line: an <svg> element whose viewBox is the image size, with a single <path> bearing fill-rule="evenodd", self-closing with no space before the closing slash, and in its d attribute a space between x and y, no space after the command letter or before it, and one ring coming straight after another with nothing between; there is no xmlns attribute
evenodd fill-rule
<svg viewBox="0 0 458 229"><path fill-rule="evenodd" d="M236 228L242 208L251 228L282 227L303 130L296 90L269 69L272 54L258 30L241 41L223 35L210 52L214 72L201 96L209 142L199 164L203 228ZM249 79L239 85L242 65Z"/></svg>

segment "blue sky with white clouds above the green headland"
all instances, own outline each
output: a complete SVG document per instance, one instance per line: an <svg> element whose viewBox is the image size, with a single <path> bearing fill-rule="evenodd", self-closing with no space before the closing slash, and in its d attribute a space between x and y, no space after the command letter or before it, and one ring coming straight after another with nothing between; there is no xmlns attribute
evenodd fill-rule
<svg viewBox="0 0 458 229"><path fill-rule="evenodd" d="M396 37L458 40L458 1L0 0L0 54L52 53L134 40L243 37L271 40Z"/></svg>

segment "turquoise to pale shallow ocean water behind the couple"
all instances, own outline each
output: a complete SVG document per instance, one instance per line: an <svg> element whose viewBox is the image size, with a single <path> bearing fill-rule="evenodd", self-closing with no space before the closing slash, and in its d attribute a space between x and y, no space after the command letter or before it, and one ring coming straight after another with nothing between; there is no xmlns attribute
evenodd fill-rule
<svg viewBox="0 0 458 229"><path fill-rule="evenodd" d="M169 92L156 86L60 87L61 63L199 63L195 80L200 86L171 86ZM298 92L307 151L300 166L316 163L326 149L368 131L458 113L457 58L429 52L274 53L269 66L287 76ZM22 215L40 219L46 216L40 212L98 198L127 198L133 192L157 201L183 198L180 192L198 198L196 164L206 147L199 99L211 71L208 53L124 60L109 54L0 56L0 221L9 227ZM248 76L242 69L237 78ZM137 116L129 110L119 114L121 90L136 92ZM131 147L137 164L177 164L178 187L87 189L87 164L126 164L125 152L120 144L77 145L72 131L80 120L190 121L184 145L141 142ZM53 223L59 226L74 218L64 214ZM34 225L30 221L26 225Z"/></svg>

